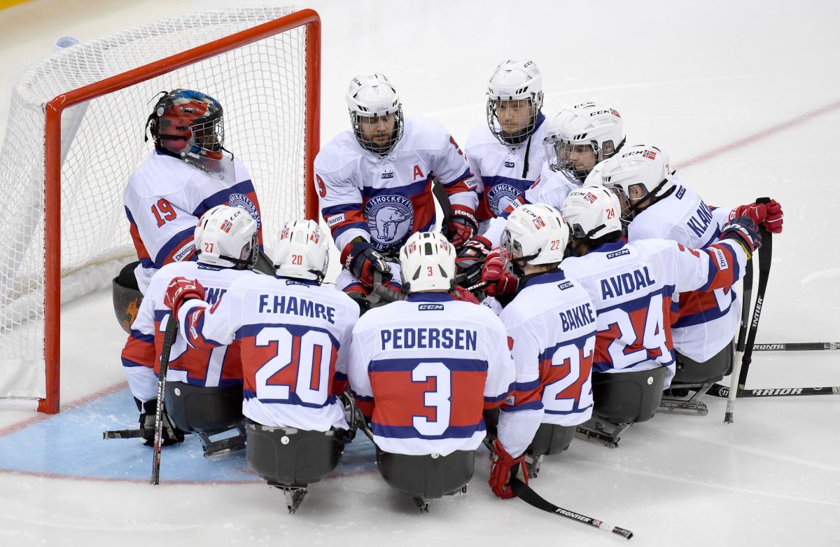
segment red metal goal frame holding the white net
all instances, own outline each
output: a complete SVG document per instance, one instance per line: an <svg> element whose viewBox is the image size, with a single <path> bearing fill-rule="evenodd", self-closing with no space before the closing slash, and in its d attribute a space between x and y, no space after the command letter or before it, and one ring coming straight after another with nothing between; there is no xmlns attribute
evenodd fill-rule
<svg viewBox="0 0 840 547"><path fill-rule="evenodd" d="M304 144L304 212L317 219L318 198L312 181L312 162L318 154L321 114L321 18L312 9L302 9L251 29L230 34L192 50L186 50L148 65L111 76L100 82L74 89L45 105L45 387L38 411L48 414L60 410L60 332L61 332L61 113L123 87L133 86L184 66L192 65L228 50L306 25L307 119Z"/></svg>

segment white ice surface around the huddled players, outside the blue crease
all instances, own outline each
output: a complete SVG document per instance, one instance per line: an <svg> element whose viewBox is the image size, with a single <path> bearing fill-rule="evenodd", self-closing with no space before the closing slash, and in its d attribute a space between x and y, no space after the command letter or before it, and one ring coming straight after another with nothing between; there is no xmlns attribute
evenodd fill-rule
<svg viewBox="0 0 840 547"><path fill-rule="evenodd" d="M33 0L0 11L0 132L13 78L48 55L58 36L93 39L226 4L242 3ZM840 339L840 4L303 4L323 18L323 142L347 127L349 78L381 71L407 114L438 119L463 144L485 123L492 69L507 57L531 58L543 71L545 112L588 99L609 103L629 140L668 150L678 169L686 165L681 180L706 202L779 200L785 233L774 241L759 342ZM752 135L762 136L737 145ZM63 402L123 381L124 335L109 292L71 302L61 320ZM838 356L757 353L748 387L840 385ZM627 431L615 450L576 439L543 465L533 487L564 508L632 529L635 545L840 545L840 398L741 399L729 425L724 400L706 402L708 416L658 414ZM32 416L0 412L0 428ZM294 516L280 492L255 483L149 487L0 472L0 544L622 542L494 499L483 458L470 493L434 503L425 516L375 471L314 485Z"/></svg>

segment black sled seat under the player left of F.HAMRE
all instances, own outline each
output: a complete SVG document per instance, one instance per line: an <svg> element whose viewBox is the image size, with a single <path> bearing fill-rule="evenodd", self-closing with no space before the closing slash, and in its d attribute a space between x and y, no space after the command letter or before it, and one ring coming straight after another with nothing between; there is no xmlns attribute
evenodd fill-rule
<svg viewBox="0 0 840 547"><path fill-rule="evenodd" d="M213 434L242 421L242 386L200 387L166 382L166 413L176 428Z"/></svg>

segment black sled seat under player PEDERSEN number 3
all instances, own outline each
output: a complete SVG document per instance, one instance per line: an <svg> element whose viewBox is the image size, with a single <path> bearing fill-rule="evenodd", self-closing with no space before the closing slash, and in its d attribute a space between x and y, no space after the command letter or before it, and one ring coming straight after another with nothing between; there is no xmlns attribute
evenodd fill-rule
<svg viewBox="0 0 840 547"><path fill-rule="evenodd" d="M473 476L475 450L455 450L450 455L404 455L376 451L382 478L412 497L433 499L458 492Z"/></svg>

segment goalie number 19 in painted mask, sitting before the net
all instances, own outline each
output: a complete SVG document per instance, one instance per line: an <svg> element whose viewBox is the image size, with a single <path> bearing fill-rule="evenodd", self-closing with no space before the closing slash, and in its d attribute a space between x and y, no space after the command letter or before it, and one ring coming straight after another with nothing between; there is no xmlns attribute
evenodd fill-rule
<svg viewBox="0 0 840 547"><path fill-rule="evenodd" d="M209 209L230 205L247 211L262 249L260 203L248 170L223 147L222 113L213 97L175 89L158 99L146 120L155 148L123 192L139 260L113 282L114 312L126 332L155 271L196 260L193 231Z"/></svg>

